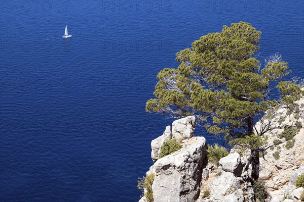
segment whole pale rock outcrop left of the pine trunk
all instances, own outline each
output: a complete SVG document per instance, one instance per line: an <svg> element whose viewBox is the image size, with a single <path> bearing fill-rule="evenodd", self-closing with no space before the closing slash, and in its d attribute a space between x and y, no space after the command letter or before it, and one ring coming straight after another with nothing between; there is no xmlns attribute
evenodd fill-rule
<svg viewBox="0 0 304 202"><path fill-rule="evenodd" d="M155 176L151 186L154 201L253 201L248 161L236 153L222 158L219 167L207 165L206 139L195 137L194 129L195 117L179 119L172 123L172 130L167 126L163 135L151 142L155 163L146 174ZM178 139L182 148L159 158L161 146L172 138ZM205 189L210 195L203 198ZM147 200L143 196L139 201Z"/></svg>

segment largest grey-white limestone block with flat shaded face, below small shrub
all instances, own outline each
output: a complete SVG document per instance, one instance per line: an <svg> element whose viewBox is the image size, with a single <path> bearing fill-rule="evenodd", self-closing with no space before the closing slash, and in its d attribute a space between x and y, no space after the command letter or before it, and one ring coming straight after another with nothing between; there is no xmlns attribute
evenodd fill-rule
<svg viewBox="0 0 304 202"><path fill-rule="evenodd" d="M195 201L200 193L202 170L207 163L204 137L192 137L178 151L154 164L155 202Z"/></svg>

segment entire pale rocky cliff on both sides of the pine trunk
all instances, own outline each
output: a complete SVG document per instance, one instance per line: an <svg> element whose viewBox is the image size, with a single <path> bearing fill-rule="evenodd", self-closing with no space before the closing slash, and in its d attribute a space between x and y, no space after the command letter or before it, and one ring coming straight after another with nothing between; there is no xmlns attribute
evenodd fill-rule
<svg viewBox="0 0 304 202"><path fill-rule="evenodd" d="M272 113L274 127L295 122L302 126L288 141L281 135L281 143L260 156L260 180L265 182L269 194L265 201L300 201L304 189L295 187L296 177L304 173L304 98L297 104L299 107L294 112L282 107L267 113ZM256 128L260 127L258 122ZM167 126L163 135L151 142L151 158L155 163L147 175L155 176L151 185L154 201L255 201L248 153L245 151L240 156L238 148L234 148L218 165L208 163L206 139L195 137L194 129L194 116L176 120L172 130ZM284 129L278 127L266 133L265 146L278 141L283 132ZM182 148L160 158L162 145L172 138L177 139ZM144 196L140 199L143 201L147 201Z"/></svg>

